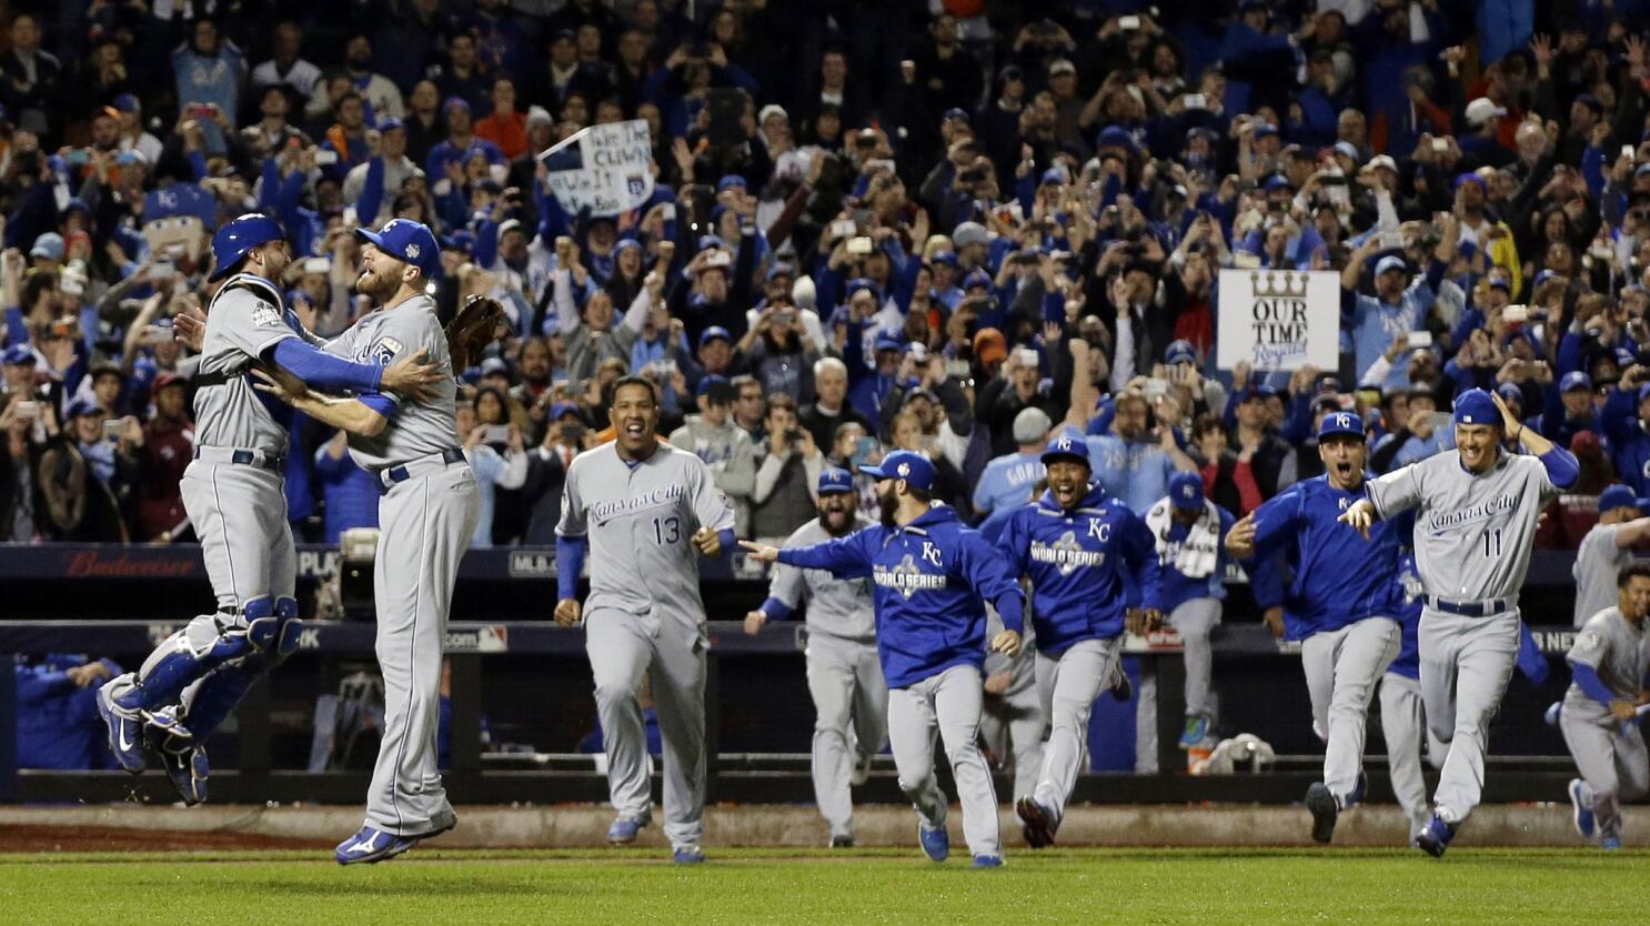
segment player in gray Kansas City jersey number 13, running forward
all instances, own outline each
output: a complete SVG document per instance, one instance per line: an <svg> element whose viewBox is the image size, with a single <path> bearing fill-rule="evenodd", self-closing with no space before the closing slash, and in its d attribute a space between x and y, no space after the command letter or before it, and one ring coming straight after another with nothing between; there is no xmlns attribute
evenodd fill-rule
<svg viewBox="0 0 1650 926"><path fill-rule="evenodd" d="M700 457L657 437L658 391L639 376L614 381L617 437L573 459L556 525L556 622L584 619L596 710L607 749L607 789L619 817L612 843L635 842L652 820L642 678L665 743L665 837L672 860L705 862L705 604L700 556L733 550L733 508ZM574 598L591 556L587 609Z"/></svg>

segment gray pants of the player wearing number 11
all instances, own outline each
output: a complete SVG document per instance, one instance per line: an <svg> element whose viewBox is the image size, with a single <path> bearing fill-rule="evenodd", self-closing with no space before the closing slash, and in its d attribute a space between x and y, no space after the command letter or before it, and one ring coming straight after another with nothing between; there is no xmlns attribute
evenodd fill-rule
<svg viewBox="0 0 1650 926"><path fill-rule="evenodd" d="M1490 720L1518 660L1518 609L1465 617L1427 606L1419 637L1427 726L1449 743L1432 806L1445 822L1459 824L1483 796Z"/></svg>

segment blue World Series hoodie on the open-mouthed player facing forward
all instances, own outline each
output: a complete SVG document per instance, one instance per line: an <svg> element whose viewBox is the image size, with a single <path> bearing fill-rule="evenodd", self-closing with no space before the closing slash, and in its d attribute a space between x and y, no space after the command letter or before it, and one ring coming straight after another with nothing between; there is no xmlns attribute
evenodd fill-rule
<svg viewBox="0 0 1650 926"><path fill-rule="evenodd" d="M1099 484L1066 512L1044 492L1008 515L997 541L1015 576L1031 578L1031 626L1040 652L1059 655L1079 640L1124 632L1124 614L1157 596L1152 533ZM1135 583L1125 583L1132 574ZM1155 602L1153 602L1155 604Z"/></svg>

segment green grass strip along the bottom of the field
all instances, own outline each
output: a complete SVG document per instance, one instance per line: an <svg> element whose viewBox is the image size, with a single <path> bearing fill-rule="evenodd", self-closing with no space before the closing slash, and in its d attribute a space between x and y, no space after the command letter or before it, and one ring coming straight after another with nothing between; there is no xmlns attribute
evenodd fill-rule
<svg viewBox="0 0 1650 926"><path fill-rule="evenodd" d="M912 850L0 855L5 923L1645 923L1650 852Z"/></svg>

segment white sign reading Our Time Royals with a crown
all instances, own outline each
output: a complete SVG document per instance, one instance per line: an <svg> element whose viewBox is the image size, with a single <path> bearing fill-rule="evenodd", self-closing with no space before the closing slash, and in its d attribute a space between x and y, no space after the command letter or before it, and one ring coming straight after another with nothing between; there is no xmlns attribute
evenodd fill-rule
<svg viewBox="0 0 1650 926"><path fill-rule="evenodd" d="M1340 274L1221 271L1216 361L1223 370L1333 370L1340 363Z"/></svg>

